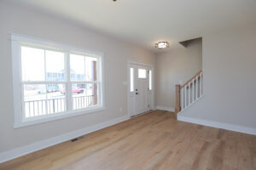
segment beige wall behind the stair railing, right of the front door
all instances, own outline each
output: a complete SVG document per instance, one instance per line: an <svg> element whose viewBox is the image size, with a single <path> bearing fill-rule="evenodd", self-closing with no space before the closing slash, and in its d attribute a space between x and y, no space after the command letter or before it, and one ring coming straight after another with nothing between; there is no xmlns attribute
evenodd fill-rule
<svg viewBox="0 0 256 170"><path fill-rule="evenodd" d="M179 46L169 52L157 54L156 103L158 106L175 108L175 85L186 82L201 70L201 39Z"/></svg>

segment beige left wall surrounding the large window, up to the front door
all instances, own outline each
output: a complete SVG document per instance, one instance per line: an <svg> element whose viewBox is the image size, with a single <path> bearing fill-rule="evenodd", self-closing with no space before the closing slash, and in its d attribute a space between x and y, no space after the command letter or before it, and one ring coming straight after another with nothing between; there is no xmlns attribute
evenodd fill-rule
<svg viewBox="0 0 256 170"><path fill-rule="evenodd" d="M55 122L14 129L10 32L103 52L106 110ZM49 139L127 114L127 61L155 64L143 48L85 29L34 9L0 2L0 152ZM123 111L120 112L119 108Z"/></svg>

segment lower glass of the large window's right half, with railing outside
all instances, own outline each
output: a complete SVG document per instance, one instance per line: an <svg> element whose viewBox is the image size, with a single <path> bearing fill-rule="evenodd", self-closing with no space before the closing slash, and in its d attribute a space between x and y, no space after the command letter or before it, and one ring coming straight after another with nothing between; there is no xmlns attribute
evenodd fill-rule
<svg viewBox="0 0 256 170"><path fill-rule="evenodd" d="M73 110L84 109L99 104L97 83L73 83Z"/></svg>

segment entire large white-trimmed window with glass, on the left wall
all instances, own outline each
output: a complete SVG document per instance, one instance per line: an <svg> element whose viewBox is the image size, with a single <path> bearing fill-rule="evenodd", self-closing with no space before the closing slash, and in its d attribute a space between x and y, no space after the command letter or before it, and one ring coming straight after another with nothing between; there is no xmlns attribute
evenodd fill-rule
<svg viewBox="0 0 256 170"><path fill-rule="evenodd" d="M12 36L15 127L103 108L102 55Z"/></svg>

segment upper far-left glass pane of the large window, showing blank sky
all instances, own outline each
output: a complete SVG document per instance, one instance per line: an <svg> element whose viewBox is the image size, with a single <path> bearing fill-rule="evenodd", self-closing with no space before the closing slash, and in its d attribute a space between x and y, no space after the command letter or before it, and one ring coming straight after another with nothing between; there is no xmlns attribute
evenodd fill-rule
<svg viewBox="0 0 256 170"><path fill-rule="evenodd" d="M23 81L44 81L44 49L21 47Z"/></svg>

